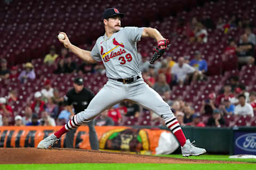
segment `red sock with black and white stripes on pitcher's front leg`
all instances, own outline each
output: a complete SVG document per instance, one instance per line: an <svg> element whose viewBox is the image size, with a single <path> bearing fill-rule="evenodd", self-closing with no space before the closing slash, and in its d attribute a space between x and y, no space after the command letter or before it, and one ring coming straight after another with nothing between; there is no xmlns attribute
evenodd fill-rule
<svg viewBox="0 0 256 170"><path fill-rule="evenodd" d="M175 117L170 118L169 120L165 121L166 126L172 131L175 137L180 142L180 146L184 146L186 143L186 137L183 131L180 128L180 124Z"/></svg>

